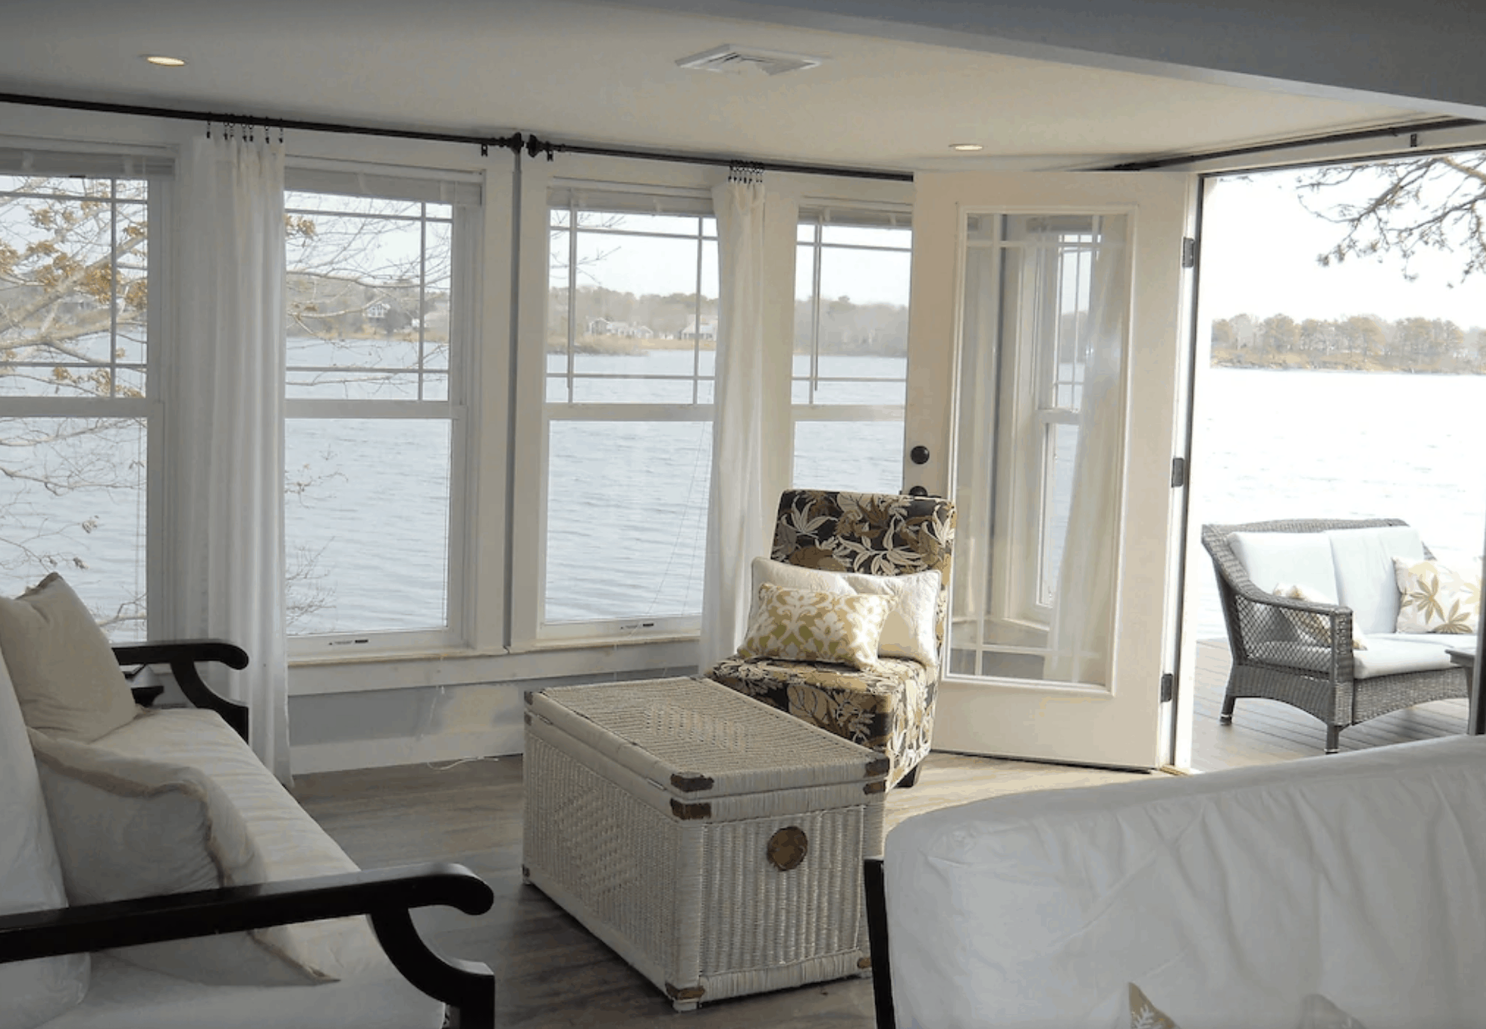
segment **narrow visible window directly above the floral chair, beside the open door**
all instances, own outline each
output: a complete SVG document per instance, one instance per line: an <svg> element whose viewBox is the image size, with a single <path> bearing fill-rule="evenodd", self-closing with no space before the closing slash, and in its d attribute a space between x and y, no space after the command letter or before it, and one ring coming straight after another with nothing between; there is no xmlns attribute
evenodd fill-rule
<svg viewBox="0 0 1486 1029"><path fill-rule="evenodd" d="M795 486L902 489L908 222L906 208L801 208L791 376Z"/></svg>

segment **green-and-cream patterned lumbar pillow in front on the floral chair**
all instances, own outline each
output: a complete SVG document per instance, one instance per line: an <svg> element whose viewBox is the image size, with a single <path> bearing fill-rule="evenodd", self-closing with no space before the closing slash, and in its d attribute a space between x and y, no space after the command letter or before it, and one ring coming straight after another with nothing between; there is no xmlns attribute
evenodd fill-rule
<svg viewBox="0 0 1486 1029"><path fill-rule="evenodd" d="M877 668L877 639L893 604L895 598L874 593L825 593L764 583L753 598L739 657Z"/></svg>

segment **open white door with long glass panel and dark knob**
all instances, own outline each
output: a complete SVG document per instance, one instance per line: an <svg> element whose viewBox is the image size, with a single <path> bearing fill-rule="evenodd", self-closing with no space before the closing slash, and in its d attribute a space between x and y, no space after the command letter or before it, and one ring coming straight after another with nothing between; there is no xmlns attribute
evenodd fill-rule
<svg viewBox="0 0 1486 1029"><path fill-rule="evenodd" d="M909 485L958 512L935 749L1167 760L1195 178L917 181ZM918 457L923 457L921 454Z"/></svg>

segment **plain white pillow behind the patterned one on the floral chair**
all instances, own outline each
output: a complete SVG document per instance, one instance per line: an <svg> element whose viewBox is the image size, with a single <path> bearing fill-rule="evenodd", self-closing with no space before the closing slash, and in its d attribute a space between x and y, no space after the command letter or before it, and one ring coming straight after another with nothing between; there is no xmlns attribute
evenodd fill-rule
<svg viewBox="0 0 1486 1029"><path fill-rule="evenodd" d="M822 571L799 565L753 558L753 598L764 583L785 589L813 589L823 593L872 593L895 598L877 644L880 657L911 657L920 665L939 663L935 626L939 617L939 572L908 575L868 575L863 572Z"/></svg>

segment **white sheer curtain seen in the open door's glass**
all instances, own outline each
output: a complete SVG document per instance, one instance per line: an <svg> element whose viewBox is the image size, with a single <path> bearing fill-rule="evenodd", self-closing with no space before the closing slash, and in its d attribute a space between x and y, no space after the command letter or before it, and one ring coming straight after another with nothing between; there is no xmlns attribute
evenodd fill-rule
<svg viewBox="0 0 1486 1029"><path fill-rule="evenodd" d="M1123 216L1101 219L1094 253L1073 498L1043 662L1043 678L1060 683L1109 681L1129 314L1125 225Z"/></svg>

